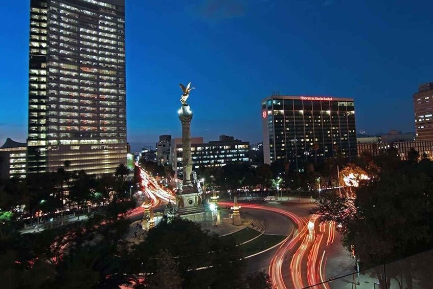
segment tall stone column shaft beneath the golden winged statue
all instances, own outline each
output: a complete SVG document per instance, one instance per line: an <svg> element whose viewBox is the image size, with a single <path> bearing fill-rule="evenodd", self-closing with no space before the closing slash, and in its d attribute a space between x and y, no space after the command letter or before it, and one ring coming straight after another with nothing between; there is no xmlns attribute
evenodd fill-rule
<svg viewBox="0 0 433 289"><path fill-rule="evenodd" d="M191 184L192 158L191 158L191 120L192 112L189 105L180 107L179 119L182 123L182 165L184 173L184 186Z"/></svg>

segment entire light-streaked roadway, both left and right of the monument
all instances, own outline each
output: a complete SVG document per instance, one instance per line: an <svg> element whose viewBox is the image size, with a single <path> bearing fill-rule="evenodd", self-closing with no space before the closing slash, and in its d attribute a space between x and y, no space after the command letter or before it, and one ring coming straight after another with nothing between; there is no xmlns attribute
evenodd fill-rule
<svg viewBox="0 0 433 289"><path fill-rule="evenodd" d="M144 169L140 170L140 187L148 198L147 207L157 208L164 203L175 202L175 195L158 184ZM221 206L231 206L232 202L218 202ZM241 215L245 210L254 210L270 225L270 232L278 235L288 235L280 246L248 259L247 271L267 270L275 288L331 288L328 283L322 283L335 276L353 272L354 260L343 249L336 232L335 223L321 223L317 215L311 215L313 203L302 202L268 202L239 203ZM132 219L143 216L144 205L129 213ZM258 213L262 211L266 213ZM288 218L293 227L288 229ZM280 224L280 226L279 226ZM290 231L290 232L289 232ZM338 241L336 241L338 240ZM333 287L333 286L332 286Z"/></svg>

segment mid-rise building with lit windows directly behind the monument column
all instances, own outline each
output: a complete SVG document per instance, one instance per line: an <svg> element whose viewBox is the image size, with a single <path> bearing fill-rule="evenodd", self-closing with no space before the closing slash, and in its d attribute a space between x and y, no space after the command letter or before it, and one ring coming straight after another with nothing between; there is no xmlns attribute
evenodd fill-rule
<svg viewBox="0 0 433 289"><path fill-rule="evenodd" d="M193 169L219 167L229 163L249 163L249 142L220 136L218 141L204 143L203 138L191 138ZM170 163L177 175L182 174L182 139L171 140Z"/></svg>

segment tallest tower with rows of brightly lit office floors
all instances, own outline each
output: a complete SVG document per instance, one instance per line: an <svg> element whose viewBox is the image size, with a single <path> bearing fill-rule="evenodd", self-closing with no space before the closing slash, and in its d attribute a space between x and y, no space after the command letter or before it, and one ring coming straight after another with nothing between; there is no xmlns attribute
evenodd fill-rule
<svg viewBox="0 0 433 289"><path fill-rule="evenodd" d="M124 0L31 0L28 172L126 163Z"/></svg>

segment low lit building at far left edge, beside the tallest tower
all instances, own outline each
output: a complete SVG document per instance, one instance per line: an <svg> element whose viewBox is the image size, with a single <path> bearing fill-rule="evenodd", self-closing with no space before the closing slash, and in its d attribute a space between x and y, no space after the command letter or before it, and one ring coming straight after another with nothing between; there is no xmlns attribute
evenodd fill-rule
<svg viewBox="0 0 433 289"><path fill-rule="evenodd" d="M27 144L7 139L0 147L0 179L26 177Z"/></svg>

